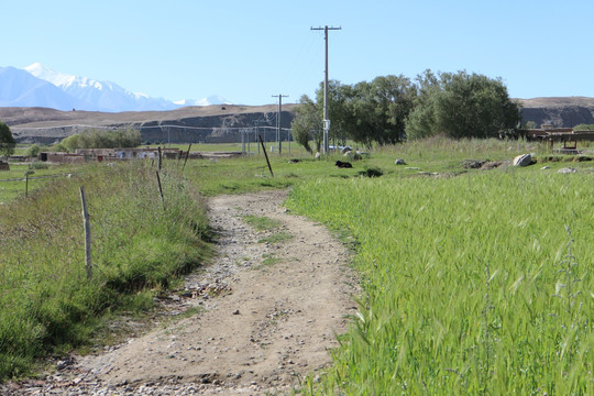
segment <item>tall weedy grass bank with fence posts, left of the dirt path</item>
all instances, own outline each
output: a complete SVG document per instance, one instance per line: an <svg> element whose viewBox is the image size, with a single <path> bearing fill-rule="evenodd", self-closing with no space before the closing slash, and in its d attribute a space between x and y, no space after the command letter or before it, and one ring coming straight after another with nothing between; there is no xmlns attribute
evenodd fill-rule
<svg viewBox="0 0 594 396"><path fill-rule="evenodd" d="M79 177L0 206L0 378L26 372L55 348L84 342L97 318L144 288L166 288L201 263L208 222L175 169L148 163L87 167ZM85 272L79 186L92 231L94 278Z"/></svg>

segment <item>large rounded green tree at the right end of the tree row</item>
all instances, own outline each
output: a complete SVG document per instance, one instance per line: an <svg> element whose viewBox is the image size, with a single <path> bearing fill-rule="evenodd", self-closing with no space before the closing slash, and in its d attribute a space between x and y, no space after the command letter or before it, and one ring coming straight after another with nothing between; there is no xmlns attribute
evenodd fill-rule
<svg viewBox="0 0 594 396"><path fill-rule="evenodd" d="M438 79L427 70L417 81L419 99L406 124L409 138L496 138L520 121L519 106L501 78L459 72Z"/></svg>

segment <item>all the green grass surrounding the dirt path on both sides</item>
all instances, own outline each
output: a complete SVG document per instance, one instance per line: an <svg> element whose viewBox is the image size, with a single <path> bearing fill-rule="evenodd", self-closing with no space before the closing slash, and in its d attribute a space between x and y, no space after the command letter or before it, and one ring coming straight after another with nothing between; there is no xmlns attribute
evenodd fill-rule
<svg viewBox="0 0 594 396"><path fill-rule="evenodd" d="M462 167L521 153L539 163ZM594 164L561 156L539 170L550 155L535 143L437 138L375 148L352 169L334 166L339 154L274 154L274 177L262 154L188 161L183 175L179 163L166 162L164 201L148 162L76 168L74 178L34 185L28 199L22 182L0 183L0 377L84 344L113 311L151 309L151 290L206 260L201 195L293 187L292 210L329 224L353 248L364 288L333 366L320 383L306 380L310 394L588 394ZM566 166L579 172L556 173ZM366 177L369 169L377 177ZM89 197L92 282L80 185Z"/></svg>

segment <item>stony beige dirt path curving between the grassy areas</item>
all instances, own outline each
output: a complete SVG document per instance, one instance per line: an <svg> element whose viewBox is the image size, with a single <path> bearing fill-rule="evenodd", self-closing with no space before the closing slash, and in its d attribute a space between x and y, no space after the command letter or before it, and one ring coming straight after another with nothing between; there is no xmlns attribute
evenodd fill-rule
<svg viewBox="0 0 594 396"><path fill-rule="evenodd" d="M198 315L78 359L44 383L22 385L21 394L261 395L316 375L354 312L355 282L348 251L323 227L282 208L286 194L210 201L220 256L168 301L179 310L202 307ZM242 221L246 215L283 226L257 232ZM258 242L278 232L290 239Z"/></svg>

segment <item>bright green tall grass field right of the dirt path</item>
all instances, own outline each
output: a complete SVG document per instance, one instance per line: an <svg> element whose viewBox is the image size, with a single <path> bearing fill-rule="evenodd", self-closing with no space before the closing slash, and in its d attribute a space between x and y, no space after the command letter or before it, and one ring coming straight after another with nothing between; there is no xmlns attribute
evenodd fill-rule
<svg viewBox="0 0 594 396"><path fill-rule="evenodd" d="M365 289L311 393L591 394L594 185L566 176L512 169L295 186L289 207L360 242ZM571 279L580 282L570 292Z"/></svg>

